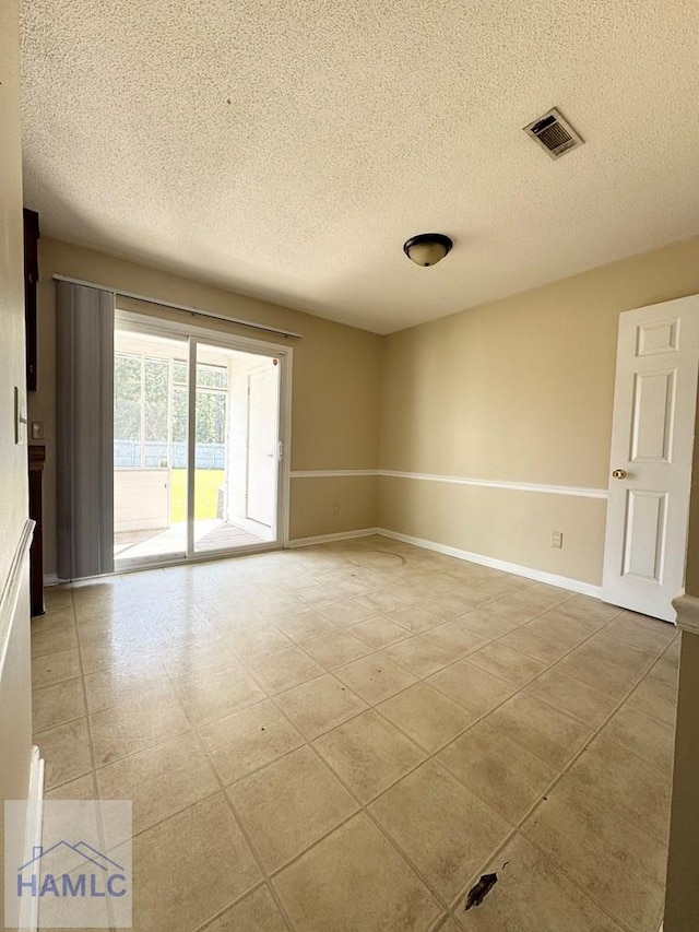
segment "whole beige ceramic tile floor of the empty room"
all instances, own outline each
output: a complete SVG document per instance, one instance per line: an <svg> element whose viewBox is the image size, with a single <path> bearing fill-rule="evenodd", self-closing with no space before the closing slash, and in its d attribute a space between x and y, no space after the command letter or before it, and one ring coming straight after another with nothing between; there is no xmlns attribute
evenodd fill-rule
<svg viewBox="0 0 699 932"><path fill-rule="evenodd" d="M48 603L47 798L133 800L138 930L657 932L674 627L379 538Z"/></svg>

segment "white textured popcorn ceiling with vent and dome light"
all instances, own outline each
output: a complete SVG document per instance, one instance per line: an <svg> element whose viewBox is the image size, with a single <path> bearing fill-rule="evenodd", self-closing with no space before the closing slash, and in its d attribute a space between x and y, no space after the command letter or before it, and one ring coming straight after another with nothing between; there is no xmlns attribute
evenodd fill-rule
<svg viewBox="0 0 699 932"><path fill-rule="evenodd" d="M699 233L698 36L696 0L26 0L25 199L389 332ZM559 162L521 131L552 106Z"/></svg>

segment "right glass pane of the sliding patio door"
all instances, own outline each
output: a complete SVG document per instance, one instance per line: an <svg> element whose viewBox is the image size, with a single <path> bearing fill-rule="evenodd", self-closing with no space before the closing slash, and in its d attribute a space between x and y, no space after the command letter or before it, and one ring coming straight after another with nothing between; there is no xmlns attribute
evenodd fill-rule
<svg viewBox="0 0 699 932"><path fill-rule="evenodd" d="M277 361L197 346L194 551L276 539Z"/></svg>

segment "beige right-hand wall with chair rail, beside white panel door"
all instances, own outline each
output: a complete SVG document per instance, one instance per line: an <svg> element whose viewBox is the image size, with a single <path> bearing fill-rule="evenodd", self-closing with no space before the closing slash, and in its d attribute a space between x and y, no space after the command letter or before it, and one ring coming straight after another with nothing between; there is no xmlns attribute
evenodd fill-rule
<svg viewBox="0 0 699 932"><path fill-rule="evenodd" d="M697 292L691 239L386 338L381 468L606 488L618 316ZM390 477L379 494L380 527L596 585L605 510Z"/></svg>

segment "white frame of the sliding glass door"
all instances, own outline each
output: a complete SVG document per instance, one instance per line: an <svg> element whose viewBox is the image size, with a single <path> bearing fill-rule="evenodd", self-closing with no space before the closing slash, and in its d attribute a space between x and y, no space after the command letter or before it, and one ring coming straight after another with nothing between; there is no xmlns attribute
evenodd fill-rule
<svg viewBox="0 0 699 932"><path fill-rule="evenodd" d="M120 561L118 571L129 569L143 569L146 567L171 566L174 564L196 563L206 559L221 559L225 556L244 555L246 553L257 553L259 551L279 550L280 547L287 548L289 545L289 508L291 508L291 464L292 464L292 388L293 388L293 370L294 370L294 347L288 343L274 343L268 340L257 340L251 337L240 337L238 334L226 333L223 330L200 327L198 325L182 323L180 321L168 320L151 316L146 312L121 310L117 308L115 314L115 326L123 323L129 330L141 333L150 333L154 335L167 337L168 334L177 334L180 338L188 339L188 343L205 343L209 346L222 346L228 350L238 350L244 353L252 353L260 356L273 356L280 361L280 444L281 444L281 460L277 484L277 514L276 514L276 539L274 541L264 541L260 544L250 544L245 547L236 547L235 550L224 551L205 551L197 553L193 551L193 509L194 499L193 493L190 491L190 483L193 483L194 473L191 468L188 468L188 495L187 495L187 554L182 557L174 557L171 559L154 558ZM192 374L192 366L196 366L197 355L192 352L192 346L189 347L189 379L190 384L196 389L196 370ZM192 382L191 379L194 378ZM188 467L191 465L191 458L194 456L194 418L192 408L196 405L196 390L189 392L189 423L188 423ZM196 408L194 408L196 411Z"/></svg>

